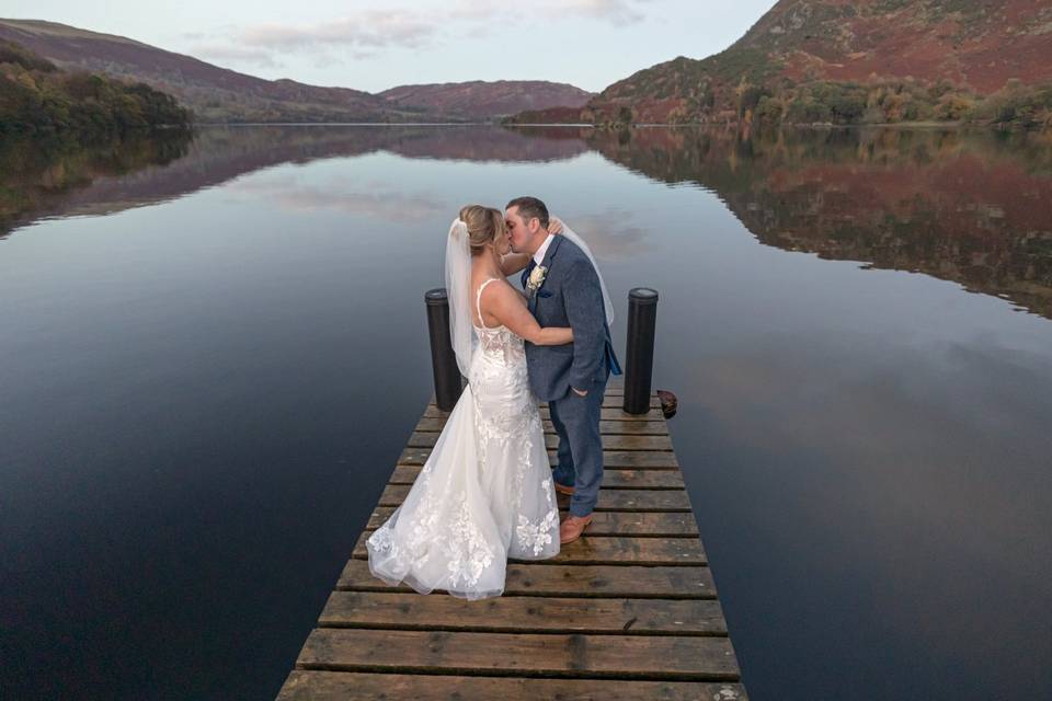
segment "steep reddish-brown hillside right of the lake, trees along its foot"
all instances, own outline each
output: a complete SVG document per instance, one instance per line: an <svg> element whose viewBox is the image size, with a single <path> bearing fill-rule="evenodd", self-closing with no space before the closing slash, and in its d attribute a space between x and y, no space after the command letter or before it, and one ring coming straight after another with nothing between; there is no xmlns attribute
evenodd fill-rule
<svg viewBox="0 0 1052 701"><path fill-rule="evenodd" d="M1052 116L1052 89L1028 87L1050 84L1047 1L781 0L728 49L641 70L604 90L581 118L1034 120ZM980 103L994 93L984 114Z"/></svg>

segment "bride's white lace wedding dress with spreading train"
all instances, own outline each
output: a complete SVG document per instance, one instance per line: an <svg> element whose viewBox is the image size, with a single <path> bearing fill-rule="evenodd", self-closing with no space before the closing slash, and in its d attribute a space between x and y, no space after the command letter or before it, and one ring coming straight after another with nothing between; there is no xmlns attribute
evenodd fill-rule
<svg viewBox="0 0 1052 701"><path fill-rule="evenodd" d="M477 309L494 279L479 286ZM370 572L390 585L482 599L503 594L508 558L559 553L559 508L523 338L503 325L471 326L468 386L405 501L367 547Z"/></svg>

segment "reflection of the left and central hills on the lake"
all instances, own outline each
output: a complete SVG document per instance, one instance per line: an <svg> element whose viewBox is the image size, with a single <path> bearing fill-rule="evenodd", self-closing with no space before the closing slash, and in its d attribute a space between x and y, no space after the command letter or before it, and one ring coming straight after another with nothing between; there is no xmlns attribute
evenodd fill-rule
<svg viewBox="0 0 1052 701"><path fill-rule="evenodd" d="M271 165L387 151L407 158L552 161L587 151L578 138L478 127L260 126L99 145L0 147L0 239L34 220L105 214L180 197ZM163 168L159 168L163 165Z"/></svg>

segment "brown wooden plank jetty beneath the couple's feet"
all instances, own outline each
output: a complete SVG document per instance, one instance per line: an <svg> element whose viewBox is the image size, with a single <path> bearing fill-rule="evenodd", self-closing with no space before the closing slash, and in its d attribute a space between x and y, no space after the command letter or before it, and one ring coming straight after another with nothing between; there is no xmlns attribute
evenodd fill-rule
<svg viewBox="0 0 1052 701"><path fill-rule="evenodd" d="M448 416L430 404L278 701L746 699L658 395L637 415L622 411L622 393L611 378L592 525L556 558L511 561L504 595L480 601L369 574L365 540L404 498ZM565 512L569 497L559 502Z"/></svg>

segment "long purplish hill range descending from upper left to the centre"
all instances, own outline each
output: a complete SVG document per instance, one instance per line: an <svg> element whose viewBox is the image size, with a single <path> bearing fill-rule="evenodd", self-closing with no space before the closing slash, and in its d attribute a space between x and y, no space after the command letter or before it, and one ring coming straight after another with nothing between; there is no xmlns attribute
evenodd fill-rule
<svg viewBox="0 0 1052 701"><path fill-rule="evenodd" d="M145 82L175 95L201 122L484 120L527 108L580 106L592 96L544 81L409 85L376 95L264 80L123 36L37 20L0 20L0 39L62 68Z"/></svg>

